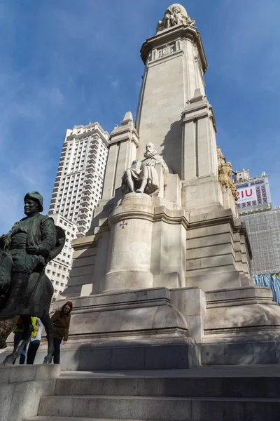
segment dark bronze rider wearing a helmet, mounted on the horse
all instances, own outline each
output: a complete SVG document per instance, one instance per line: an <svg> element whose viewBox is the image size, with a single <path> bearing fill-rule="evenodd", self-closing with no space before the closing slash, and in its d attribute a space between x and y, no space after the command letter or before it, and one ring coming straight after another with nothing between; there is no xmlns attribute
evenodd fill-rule
<svg viewBox="0 0 280 421"><path fill-rule="evenodd" d="M52 218L41 215L43 197L25 195L25 215L6 235L0 236L1 319L20 314L19 305L33 272L41 272L56 246ZM40 270L41 269L41 270Z"/></svg>

